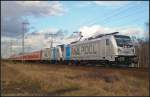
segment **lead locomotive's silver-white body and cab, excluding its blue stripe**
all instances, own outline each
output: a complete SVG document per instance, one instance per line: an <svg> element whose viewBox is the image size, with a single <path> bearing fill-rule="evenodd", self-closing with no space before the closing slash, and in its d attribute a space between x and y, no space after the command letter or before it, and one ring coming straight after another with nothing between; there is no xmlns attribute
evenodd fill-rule
<svg viewBox="0 0 150 97"><path fill-rule="evenodd" d="M70 45L71 60L130 65L135 60L135 48L129 36L106 35Z"/></svg>

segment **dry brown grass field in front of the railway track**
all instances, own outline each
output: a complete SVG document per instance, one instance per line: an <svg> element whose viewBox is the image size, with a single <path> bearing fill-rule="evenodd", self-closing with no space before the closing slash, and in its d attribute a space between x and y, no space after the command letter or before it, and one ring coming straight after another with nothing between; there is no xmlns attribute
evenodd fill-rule
<svg viewBox="0 0 150 97"><path fill-rule="evenodd" d="M148 96L148 72L2 62L2 95Z"/></svg>

